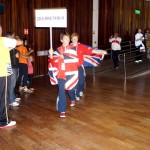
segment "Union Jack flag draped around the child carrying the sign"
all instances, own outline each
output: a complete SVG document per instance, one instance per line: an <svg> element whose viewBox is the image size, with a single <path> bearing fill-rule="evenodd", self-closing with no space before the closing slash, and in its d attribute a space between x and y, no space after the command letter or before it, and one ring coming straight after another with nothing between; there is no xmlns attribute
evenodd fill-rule
<svg viewBox="0 0 150 150"><path fill-rule="evenodd" d="M58 84L57 78L66 80L65 89L71 90L78 83L78 57L73 47L59 47L49 60L49 76L52 85Z"/></svg>

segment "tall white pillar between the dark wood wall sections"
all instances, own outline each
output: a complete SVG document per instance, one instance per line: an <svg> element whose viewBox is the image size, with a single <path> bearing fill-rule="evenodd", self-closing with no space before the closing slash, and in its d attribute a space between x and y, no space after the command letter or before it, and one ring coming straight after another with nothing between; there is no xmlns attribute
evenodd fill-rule
<svg viewBox="0 0 150 150"><path fill-rule="evenodd" d="M99 0L93 0L93 35L92 35L92 46L98 47L98 7Z"/></svg>

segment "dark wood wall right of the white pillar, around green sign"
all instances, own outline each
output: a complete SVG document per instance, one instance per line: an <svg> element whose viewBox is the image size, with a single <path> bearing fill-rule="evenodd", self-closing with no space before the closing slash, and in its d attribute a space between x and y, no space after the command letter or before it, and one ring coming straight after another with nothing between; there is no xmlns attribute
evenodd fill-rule
<svg viewBox="0 0 150 150"><path fill-rule="evenodd" d="M139 9L141 14L136 15L135 9ZM99 1L99 45L108 44L108 39L114 32L118 32L123 40L130 37L134 40L137 28L141 28L143 32L150 28L150 1Z"/></svg>

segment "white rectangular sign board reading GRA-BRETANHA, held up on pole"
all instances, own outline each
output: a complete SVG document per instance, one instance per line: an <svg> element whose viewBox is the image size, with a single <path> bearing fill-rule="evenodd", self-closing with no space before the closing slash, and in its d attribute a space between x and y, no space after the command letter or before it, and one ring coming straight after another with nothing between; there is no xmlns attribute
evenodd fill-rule
<svg viewBox="0 0 150 150"><path fill-rule="evenodd" d="M35 9L36 27L67 27L67 9Z"/></svg>

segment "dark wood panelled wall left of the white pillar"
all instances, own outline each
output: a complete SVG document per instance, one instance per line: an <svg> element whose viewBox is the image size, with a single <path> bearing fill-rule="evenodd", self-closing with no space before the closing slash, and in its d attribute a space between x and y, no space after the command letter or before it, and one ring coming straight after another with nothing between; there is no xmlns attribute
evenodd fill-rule
<svg viewBox="0 0 150 150"><path fill-rule="evenodd" d="M67 28L53 29L53 48L61 43L59 35L62 31L78 32L82 43L92 43L92 9L93 0L0 0L4 3L4 14L0 14L0 24L3 35L7 31L15 31L16 35L24 37L24 29L29 29L28 42L35 50L35 75L47 74L47 57L37 57L39 50L50 48L49 28L34 27L34 9L67 8Z"/></svg>

